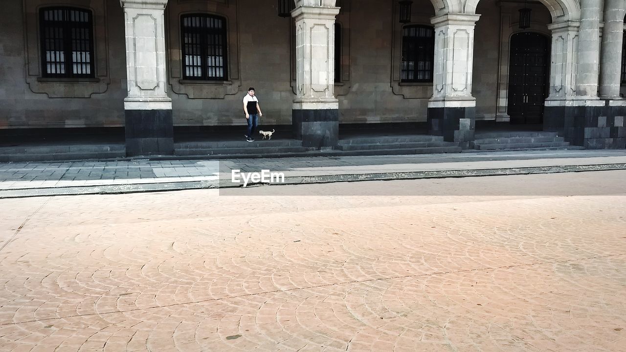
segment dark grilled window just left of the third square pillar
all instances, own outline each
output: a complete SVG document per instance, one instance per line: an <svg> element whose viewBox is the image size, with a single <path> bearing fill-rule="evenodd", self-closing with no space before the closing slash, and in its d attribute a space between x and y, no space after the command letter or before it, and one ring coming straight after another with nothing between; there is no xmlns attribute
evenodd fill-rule
<svg viewBox="0 0 626 352"><path fill-rule="evenodd" d="M403 82L432 82L434 66L434 29L427 26L406 26L402 29Z"/></svg>

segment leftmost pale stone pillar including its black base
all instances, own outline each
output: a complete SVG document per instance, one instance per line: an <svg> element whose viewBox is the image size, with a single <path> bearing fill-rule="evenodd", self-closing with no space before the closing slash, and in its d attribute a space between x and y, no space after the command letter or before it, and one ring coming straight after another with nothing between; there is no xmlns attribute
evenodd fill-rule
<svg viewBox="0 0 626 352"><path fill-rule="evenodd" d="M165 91L167 0L120 0L126 24L126 154L173 154L172 100Z"/></svg>

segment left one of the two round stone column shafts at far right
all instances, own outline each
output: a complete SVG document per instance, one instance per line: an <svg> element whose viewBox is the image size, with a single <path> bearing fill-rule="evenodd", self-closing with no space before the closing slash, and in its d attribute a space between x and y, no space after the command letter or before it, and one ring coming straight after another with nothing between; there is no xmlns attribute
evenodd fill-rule
<svg viewBox="0 0 626 352"><path fill-rule="evenodd" d="M580 0L576 95L598 98L600 0Z"/></svg>

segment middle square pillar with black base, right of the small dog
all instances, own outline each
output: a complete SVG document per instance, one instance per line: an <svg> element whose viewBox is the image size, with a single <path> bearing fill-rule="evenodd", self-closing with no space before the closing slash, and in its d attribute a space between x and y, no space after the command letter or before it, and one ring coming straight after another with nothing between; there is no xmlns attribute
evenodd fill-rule
<svg viewBox="0 0 626 352"><path fill-rule="evenodd" d="M336 0L296 0L296 87L292 108L295 138L304 147L339 143L339 101L334 96Z"/></svg>

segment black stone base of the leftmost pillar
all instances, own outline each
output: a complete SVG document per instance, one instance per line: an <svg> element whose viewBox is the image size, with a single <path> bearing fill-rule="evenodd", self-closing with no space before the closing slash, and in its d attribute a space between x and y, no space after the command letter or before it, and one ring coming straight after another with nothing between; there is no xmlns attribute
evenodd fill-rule
<svg viewBox="0 0 626 352"><path fill-rule="evenodd" d="M126 110L126 156L173 155L172 110Z"/></svg>

